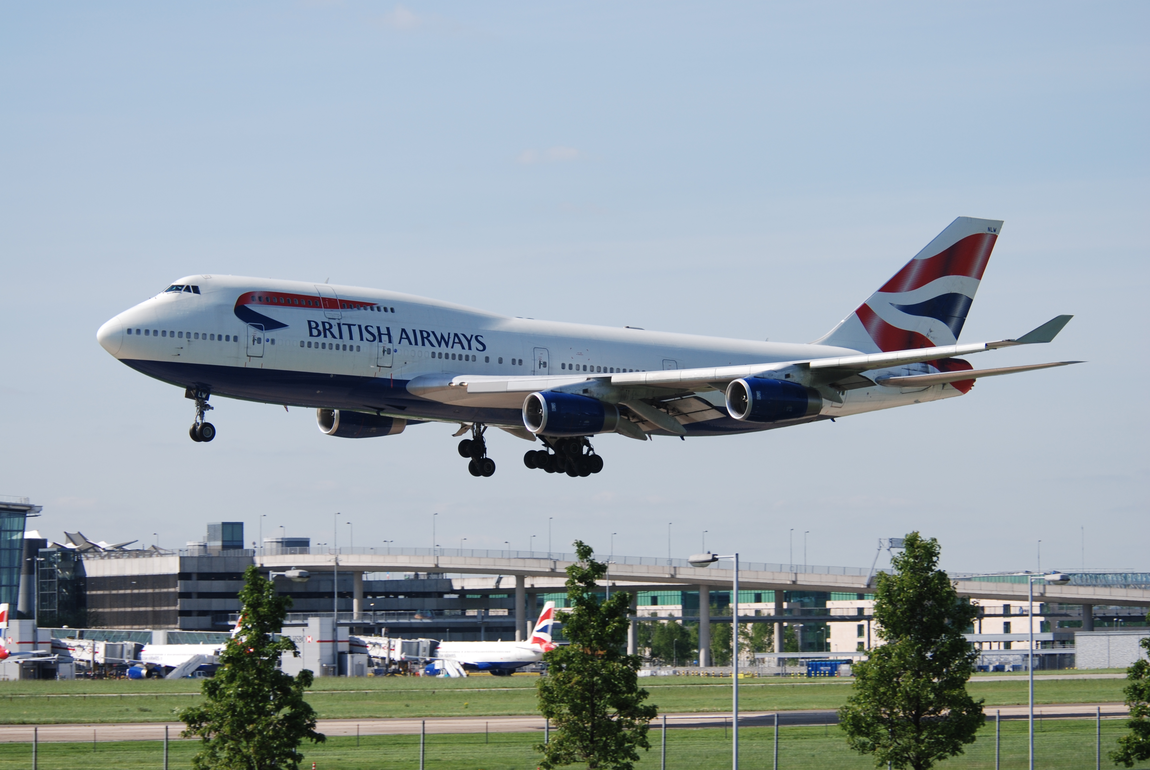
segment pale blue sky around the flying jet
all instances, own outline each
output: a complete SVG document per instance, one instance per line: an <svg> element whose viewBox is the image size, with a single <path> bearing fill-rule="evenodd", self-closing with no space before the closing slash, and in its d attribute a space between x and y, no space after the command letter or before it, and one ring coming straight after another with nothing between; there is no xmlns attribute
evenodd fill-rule
<svg viewBox="0 0 1150 770"><path fill-rule="evenodd" d="M0 7L0 493L60 538L1148 567L1145 3L16 3ZM957 215L1004 219L964 341L1059 313L1089 363L735 439L605 436L528 471L453 426L323 436L192 404L106 319L192 273L382 287L508 315L813 340ZM348 527L340 525L340 542Z"/></svg>

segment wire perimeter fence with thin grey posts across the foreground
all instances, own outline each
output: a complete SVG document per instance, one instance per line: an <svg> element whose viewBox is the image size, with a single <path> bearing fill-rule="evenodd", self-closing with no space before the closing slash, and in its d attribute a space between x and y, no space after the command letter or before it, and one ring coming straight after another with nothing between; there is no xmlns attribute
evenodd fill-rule
<svg viewBox="0 0 1150 770"><path fill-rule="evenodd" d="M1003 718L995 723L991 711L987 726L963 755L941 762L940 768L956 770L1022 770L1027 767L1027 723L1025 718ZM871 770L873 758L850 750L835 723L833 711L780 712L741 718L739 768L744 770L827 770L838 768ZM482 719L469 724L471 732L451 730L448 722L365 721L342 722L327 742L305 745L302 768L316 770L535 770L538 744L547 740L547 730L507 724L507 718ZM430 725L430 726L429 726ZM637 768L659 770L724 770L731 767L729 717L712 715L660 718L649 733L650 750L641 752ZM458 729L458 727L454 727ZM38 740L33 727L5 727L0 738L0 769L75 770L78 767L117 769L185 769L199 749L195 740L178 740L178 727L169 726L170 742L163 740L164 725L135 725L136 740L122 740L118 726L77 726L84 740ZM330 727L329 727L330 730ZM386 730L386 734L378 734ZM17 734L23 731L25 734ZM91 731L89 735L87 731ZM48 729L37 731L48 735ZM1126 732L1125 718L1065 719L1043 717L1035 725L1035 767L1043 770L1083 770L1113 768L1106 753ZM59 734L59 733L57 733ZM154 738L153 738L154 737ZM578 767L578 765L572 765ZM1150 762L1135 765L1150 768Z"/></svg>

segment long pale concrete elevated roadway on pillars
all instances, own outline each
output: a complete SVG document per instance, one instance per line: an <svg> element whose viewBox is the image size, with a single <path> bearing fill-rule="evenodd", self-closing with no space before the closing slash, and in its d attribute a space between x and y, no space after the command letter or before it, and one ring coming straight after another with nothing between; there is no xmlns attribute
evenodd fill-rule
<svg viewBox="0 0 1150 770"><path fill-rule="evenodd" d="M720 562L707 567L691 566L685 559L667 559L634 556L603 556L611 562L610 582L613 589L627 590L632 595L639 590L659 590L670 586L690 587L699 590L699 647L708 649L710 618L706 601L712 588L724 589L731 585L734 570L729 562ZM256 554L255 563L270 571L291 569L322 572L338 570L350 572L353 578L353 617L360 617L363 604L363 573L366 572L430 572L450 574L505 575L514 577L515 586L515 634L526 638L532 618L527 612L528 593L552 593L562 590L566 569L575 562L573 554L542 554L511 550L430 549L430 548L296 548L279 552ZM773 617L781 618L775 626L775 645L781 653L782 625L798 618L785 616L782 592L833 592L865 594L874 589L874 571L858 567L834 567L796 564L764 564L744 562L739 565L739 588L742 590L775 592ZM954 578L954 587L960 596L982 601L1002 601L1019 604L1027 600L1027 584L999 581L977 575ZM508 588L511 588L508 586ZM509 593L509 592L508 592ZM1092 627L1094 605L1147 607L1150 608L1150 589L1122 585L1065 585L1044 582L1034 585L1034 595L1048 603L1083 605L1087 630ZM531 608L535 607L532 602ZM635 647L635 620L632 612L629 647ZM782 618L787 618L785 620ZM702 663L702 661L700 661Z"/></svg>

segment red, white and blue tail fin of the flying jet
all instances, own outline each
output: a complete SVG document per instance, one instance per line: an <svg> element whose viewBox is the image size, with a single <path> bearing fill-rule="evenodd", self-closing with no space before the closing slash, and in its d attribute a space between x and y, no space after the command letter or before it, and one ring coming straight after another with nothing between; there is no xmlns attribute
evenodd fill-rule
<svg viewBox="0 0 1150 770"><path fill-rule="evenodd" d="M957 343L1002 224L959 216L815 344L877 353Z"/></svg>

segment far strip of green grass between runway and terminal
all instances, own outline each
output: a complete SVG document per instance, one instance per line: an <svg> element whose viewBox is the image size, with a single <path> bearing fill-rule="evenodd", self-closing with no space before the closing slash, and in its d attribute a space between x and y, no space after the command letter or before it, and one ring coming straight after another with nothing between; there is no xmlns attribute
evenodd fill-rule
<svg viewBox="0 0 1150 770"><path fill-rule="evenodd" d="M535 677L467 679L324 679L307 697L322 718L499 716L537 714ZM730 679L660 677L645 680L660 711L727 711ZM1037 703L1106 703L1122 700L1122 679L1035 683ZM0 685L0 723L167 722L195 703L199 683L17 681ZM850 694L850 679L750 679L739 686L747 711L834 709ZM987 706L1026 703L1027 681L972 680Z"/></svg>

